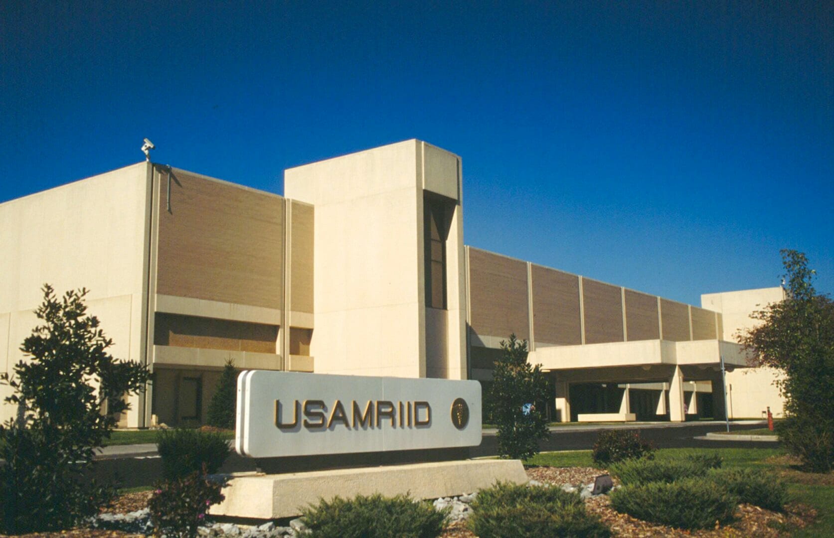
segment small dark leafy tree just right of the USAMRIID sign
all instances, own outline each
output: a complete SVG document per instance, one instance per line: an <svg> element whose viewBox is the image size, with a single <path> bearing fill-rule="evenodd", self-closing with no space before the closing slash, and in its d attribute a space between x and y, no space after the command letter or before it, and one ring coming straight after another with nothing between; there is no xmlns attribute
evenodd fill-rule
<svg viewBox="0 0 834 538"><path fill-rule="evenodd" d="M526 459L539 451L547 437L544 402L547 380L541 365L527 362L527 341L501 341L501 357L495 361L487 391L488 413L498 426L498 452L513 459ZM536 404L538 403L538 407Z"/></svg>

